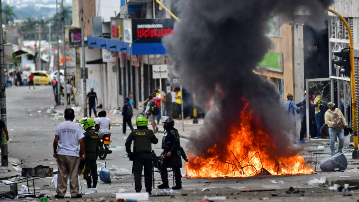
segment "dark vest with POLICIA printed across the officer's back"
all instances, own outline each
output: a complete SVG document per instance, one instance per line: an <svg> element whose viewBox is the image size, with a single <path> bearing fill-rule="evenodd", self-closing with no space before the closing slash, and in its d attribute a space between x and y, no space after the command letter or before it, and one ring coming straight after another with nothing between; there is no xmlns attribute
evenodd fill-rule
<svg viewBox="0 0 359 202"><path fill-rule="evenodd" d="M134 153L151 152L151 139L149 129L135 129L132 131L134 135Z"/></svg>

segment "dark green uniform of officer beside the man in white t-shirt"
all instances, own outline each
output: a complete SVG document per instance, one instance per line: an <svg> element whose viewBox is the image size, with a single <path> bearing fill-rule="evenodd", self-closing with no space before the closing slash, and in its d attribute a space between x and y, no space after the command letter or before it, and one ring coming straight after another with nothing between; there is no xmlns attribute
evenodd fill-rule
<svg viewBox="0 0 359 202"><path fill-rule="evenodd" d="M94 129L88 129L84 133L85 137L83 138L83 141L85 143L85 151L86 151L86 159L85 159L85 165L90 171L90 175L86 179L87 181L87 188L96 188L97 185L97 151L98 151L98 136L95 133ZM91 186L91 177L93 180L93 186Z"/></svg>

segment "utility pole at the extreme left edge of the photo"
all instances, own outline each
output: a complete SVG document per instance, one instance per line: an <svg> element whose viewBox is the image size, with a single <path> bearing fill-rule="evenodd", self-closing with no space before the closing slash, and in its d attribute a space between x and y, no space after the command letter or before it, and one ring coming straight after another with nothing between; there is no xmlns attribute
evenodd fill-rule
<svg viewBox="0 0 359 202"><path fill-rule="evenodd" d="M2 8L0 1L0 116L6 126L6 94L5 94L5 75L3 57L3 38L2 38ZM1 135L0 135L1 136ZM7 159L7 140L1 136L1 166L8 166Z"/></svg>

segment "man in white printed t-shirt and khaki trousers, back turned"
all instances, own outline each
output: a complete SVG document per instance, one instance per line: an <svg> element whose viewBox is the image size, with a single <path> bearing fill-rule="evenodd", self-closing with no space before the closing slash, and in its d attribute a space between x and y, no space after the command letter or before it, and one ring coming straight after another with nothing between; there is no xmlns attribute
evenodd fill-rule
<svg viewBox="0 0 359 202"><path fill-rule="evenodd" d="M86 159L86 150L83 141L84 135L79 125L73 122L75 112L65 109L65 121L61 122L55 130L53 143L53 157L57 159L58 178L56 199L63 199L67 189L67 174L70 173L71 198L82 198L79 193L78 169L80 164L79 144L82 150L81 159Z"/></svg>

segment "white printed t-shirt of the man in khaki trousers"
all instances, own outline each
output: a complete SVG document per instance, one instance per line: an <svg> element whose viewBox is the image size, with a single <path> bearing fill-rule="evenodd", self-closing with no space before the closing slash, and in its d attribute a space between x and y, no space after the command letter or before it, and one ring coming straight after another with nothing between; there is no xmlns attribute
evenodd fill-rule
<svg viewBox="0 0 359 202"><path fill-rule="evenodd" d="M79 157L79 140L84 137L79 125L72 121L61 122L55 130L59 137L57 154Z"/></svg>

